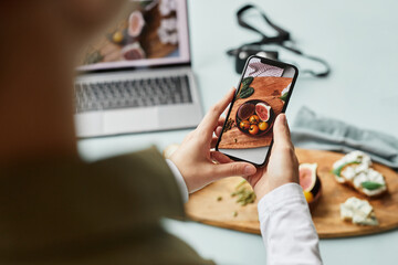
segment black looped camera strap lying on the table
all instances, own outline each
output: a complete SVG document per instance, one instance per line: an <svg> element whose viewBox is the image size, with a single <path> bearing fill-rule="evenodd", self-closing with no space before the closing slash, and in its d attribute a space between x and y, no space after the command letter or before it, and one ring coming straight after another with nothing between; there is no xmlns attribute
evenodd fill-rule
<svg viewBox="0 0 398 265"><path fill-rule="evenodd" d="M276 35L268 36L263 32L261 32L260 30L258 30L256 28L254 28L253 25L251 25L247 21L244 21L243 14L250 9L254 9L255 11L258 11L261 14L261 17L264 19L264 21L272 29L275 30ZM303 53L302 51L297 50L296 47L293 47L292 45L289 45L287 43L292 42L290 32L282 29L281 26L276 25L275 23L273 23L265 15L264 12L262 12L260 9L258 9L253 4L247 4L247 6L242 7L241 9L239 9L238 12L237 12L237 18L238 18L239 25L241 25L244 29L254 31L255 33L260 34L261 40L256 41L256 42L251 42L251 43L243 44L238 49L229 50L227 52L227 54L237 56L241 51L244 51L245 49L251 47L251 46L262 46L262 45L266 45L266 44L274 44L274 45L280 46L282 49L285 49L285 50L287 50L290 52L293 52L293 53L295 53L295 54L297 54L300 56L303 56L303 57L306 57L308 60L318 62L322 65L324 65L324 67L325 67L325 71L323 71L323 72L316 72L316 71L313 71L313 70L302 70L303 73L308 73L310 75L313 75L315 77L326 77L331 73L331 66L323 59L320 59L320 57L316 57L316 56L313 56L313 55L307 55L307 54Z"/></svg>

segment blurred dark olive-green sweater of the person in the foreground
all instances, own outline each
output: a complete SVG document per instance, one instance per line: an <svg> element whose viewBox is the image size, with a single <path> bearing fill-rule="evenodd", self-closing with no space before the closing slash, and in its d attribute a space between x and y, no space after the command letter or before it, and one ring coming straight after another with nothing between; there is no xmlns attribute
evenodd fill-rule
<svg viewBox="0 0 398 265"><path fill-rule="evenodd" d="M163 216L184 216L184 205L155 148L0 167L0 264L212 264Z"/></svg>

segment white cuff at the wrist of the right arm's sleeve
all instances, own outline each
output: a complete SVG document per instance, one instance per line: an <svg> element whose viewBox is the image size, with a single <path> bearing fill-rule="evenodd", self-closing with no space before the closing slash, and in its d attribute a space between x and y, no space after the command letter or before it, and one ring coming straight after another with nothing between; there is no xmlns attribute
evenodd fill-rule
<svg viewBox="0 0 398 265"><path fill-rule="evenodd" d="M303 188L297 183L286 183L272 190L259 201L258 211L260 222L266 212L276 211L296 200L306 204Z"/></svg>

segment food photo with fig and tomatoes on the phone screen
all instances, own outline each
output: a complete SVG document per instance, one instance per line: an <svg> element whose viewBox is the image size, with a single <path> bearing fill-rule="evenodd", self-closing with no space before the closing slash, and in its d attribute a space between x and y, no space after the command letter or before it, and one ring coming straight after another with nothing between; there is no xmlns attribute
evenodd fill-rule
<svg viewBox="0 0 398 265"><path fill-rule="evenodd" d="M268 147L272 127L282 112L293 81L292 68L268 65L251 59L223 128L219 148Z"/></svg>

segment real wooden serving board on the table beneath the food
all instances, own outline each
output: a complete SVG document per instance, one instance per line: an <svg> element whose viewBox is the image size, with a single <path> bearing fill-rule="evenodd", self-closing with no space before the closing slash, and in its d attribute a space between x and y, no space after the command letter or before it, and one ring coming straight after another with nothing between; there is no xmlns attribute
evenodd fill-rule
<svg viewBox="0 0 398 265"><path fill-rule="evenodd" d="M398 227L398 174L394 170L378 163L373 166L385 176L388 193L369 199L352 188L337 183L331 173L332 165L344 155L305 149L296 149L296 155L301 163L318 163L317 174L322 181L322 195L311 213L321 239L373 234ZM241 206L235 202L237 199L231 197L241 180L239 177L223 179L195 192L186 204L187 215L206 224L260 234L256 201ZM218 201L218 197L222 197L222 200ZM339 204L349 197L367 199L375 209L379 225L362 226L342 221Z"/></svg>

